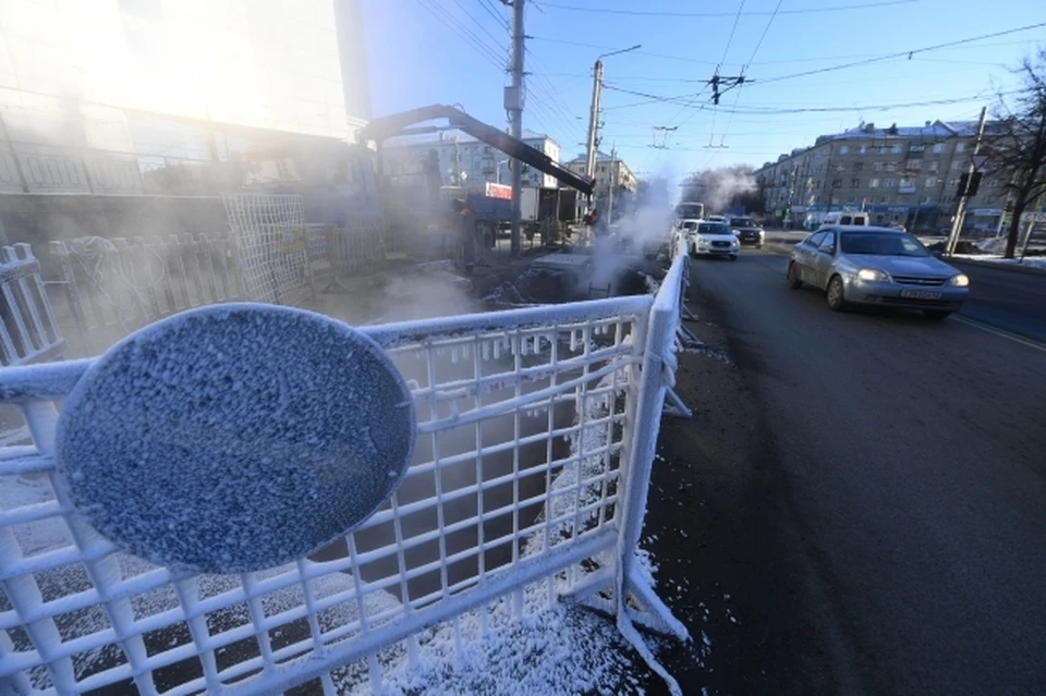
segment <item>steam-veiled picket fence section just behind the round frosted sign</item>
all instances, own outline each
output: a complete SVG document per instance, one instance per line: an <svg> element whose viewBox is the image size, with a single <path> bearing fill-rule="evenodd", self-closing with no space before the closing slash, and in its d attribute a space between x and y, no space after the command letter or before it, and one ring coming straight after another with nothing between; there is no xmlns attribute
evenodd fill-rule
<svg viewBox="0 0 1046 696"><path fill-rule="evenodd" d="M183 309L248 298L229 235L88 236L51 242L51 254L88 353Z"/></svg>

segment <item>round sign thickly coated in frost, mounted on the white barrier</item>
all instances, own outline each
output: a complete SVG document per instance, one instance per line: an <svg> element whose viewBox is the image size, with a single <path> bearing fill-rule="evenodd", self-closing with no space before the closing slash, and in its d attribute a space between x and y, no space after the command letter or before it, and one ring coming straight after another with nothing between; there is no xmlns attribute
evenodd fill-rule
<svg viewBox="0 0 1046 696"><path fill-rule="evenodd" d="M77 511L179 570L271 567L369 517L411 462L414 401L388 355L301 309L231 304L154 323L70 394L57 461Z"/></svg>

